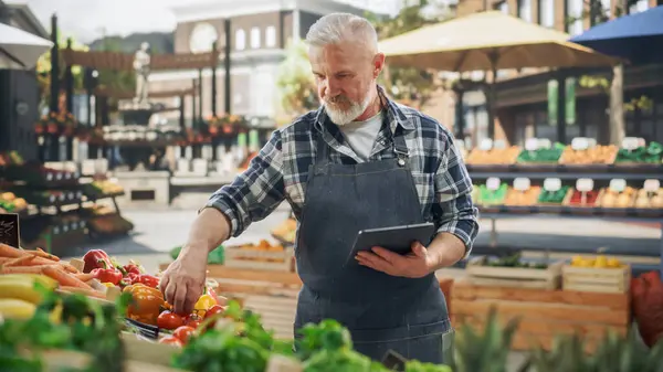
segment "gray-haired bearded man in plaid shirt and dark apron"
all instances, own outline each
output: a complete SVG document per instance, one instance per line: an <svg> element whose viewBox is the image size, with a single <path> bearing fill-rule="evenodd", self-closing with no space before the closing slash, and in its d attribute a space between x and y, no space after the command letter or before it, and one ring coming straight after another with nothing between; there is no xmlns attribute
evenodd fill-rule
<svg viewBox="0 0 663 372"><path fill-rule="evenodd" d="M466 257L478 231L467 170L443 126L377 84L385 55L366 19L325 15L306 40L323 106L274 131L249 169L210 198L161 289L176 311L190 311L208 252L287 200L303 281L295 330L336 319L375 360L393 350L442 363L453 330L434 273ZM373 247L351 256L361 230L424 222L436 232L409 254Z"/></svg>

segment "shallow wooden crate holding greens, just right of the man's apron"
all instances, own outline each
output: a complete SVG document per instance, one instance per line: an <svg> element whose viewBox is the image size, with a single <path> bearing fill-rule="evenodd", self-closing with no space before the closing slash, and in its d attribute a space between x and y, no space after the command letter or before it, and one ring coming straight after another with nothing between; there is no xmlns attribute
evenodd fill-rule
<svg viewBox="0 0 663 372"><path fill-rule="evenodd" d="M465 272L467 279L481 286L501 286L516 288L538 288L555 290L559 288L564 262L548 265L548 268L493 267L484 266L487 257L473 258Z"/></svg>

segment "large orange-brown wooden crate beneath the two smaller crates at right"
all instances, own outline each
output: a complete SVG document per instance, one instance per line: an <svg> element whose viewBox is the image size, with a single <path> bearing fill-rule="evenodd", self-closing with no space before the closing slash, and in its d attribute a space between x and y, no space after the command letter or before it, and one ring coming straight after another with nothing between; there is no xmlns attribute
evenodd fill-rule
<svg viewBox="0 0 663 372"><path fill-rule="evenodd" d="M631 323L627 294L490 287L456 280L451 298L456 329L465 323L483 329L491 308L502 325L519 319L514 350L549 350L556 336L578 333L591 351L608 329L625 334Z"/></svg>

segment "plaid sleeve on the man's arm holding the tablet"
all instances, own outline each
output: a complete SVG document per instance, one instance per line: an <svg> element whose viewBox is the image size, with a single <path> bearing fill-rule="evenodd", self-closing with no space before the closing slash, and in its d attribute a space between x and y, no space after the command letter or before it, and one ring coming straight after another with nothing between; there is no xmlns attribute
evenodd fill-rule
<svg viewBox="0 0 663 372"><path fill-rule="evenodd" d="M472 202L472 179L451 137L444 138L435 173L433 211L438 233L451 233L465 243L465 258L478 234L478 210Z"/></svg>

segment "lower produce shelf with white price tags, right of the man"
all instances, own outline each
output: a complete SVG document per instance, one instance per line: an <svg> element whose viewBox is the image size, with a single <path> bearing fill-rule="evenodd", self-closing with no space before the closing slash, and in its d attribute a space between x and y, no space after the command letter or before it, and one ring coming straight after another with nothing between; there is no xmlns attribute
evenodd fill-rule
<svg viewBox="0 0 663 372"><path fill-rule="evenodd" d="M599 153L624 158L623 150L617 155L613 149L608 150ZM467 164L474 183L473 201L482 219L492 222L490 246L497 247L495 221L502 219L527 216L660 223L659 268L663 273L663 164L599 162ZM645 255L638 251L634 247L633 254Z"/></svg>

